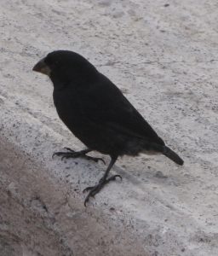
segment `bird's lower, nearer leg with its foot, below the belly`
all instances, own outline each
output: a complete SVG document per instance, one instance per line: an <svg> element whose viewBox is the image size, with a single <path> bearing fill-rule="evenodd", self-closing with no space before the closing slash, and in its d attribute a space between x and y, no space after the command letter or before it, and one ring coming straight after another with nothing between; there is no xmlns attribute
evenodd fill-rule
<svg viewBox="0 0 218 256"><path fill-rule="evenodd" d="M86 203L89 201L89 197L90 196L94 197L97 193L99 193L100 189L102 189L106 185L106 183L109 183L112 180L116 180L116 177L120 177L120 179L122 179L122 177L120 175L113 175L112 177L107 178L108 173L112 169L112 166L115 164L117 159L118 159L118 157L112 157L112 160L111 160L109 166L106 168L106 172L105 172L104 176L100 178L100 181L97 185L95 185L93 187L88 187L83 190L83 192L89 191L89 194L86 196L85 201L84 201L85 207L86 207Z"/></svg>

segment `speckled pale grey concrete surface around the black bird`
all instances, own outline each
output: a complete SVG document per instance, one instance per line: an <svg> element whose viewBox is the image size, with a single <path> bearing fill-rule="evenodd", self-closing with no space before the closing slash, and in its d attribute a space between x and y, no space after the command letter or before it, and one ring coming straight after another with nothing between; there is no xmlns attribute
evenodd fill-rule
<svg viewBox="0 0 218 256"><path fill-rule="evenodd" d="M218 255L217 9L215 0L1 0L1 255ZM82 191L105 166L51 159L83 148L55 113L49 79L32 72L54 49L89 58L185 166L123 157L113 168L123 181L84 208Z"/></svg>

